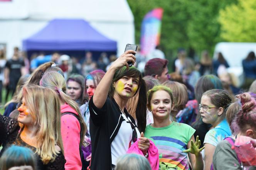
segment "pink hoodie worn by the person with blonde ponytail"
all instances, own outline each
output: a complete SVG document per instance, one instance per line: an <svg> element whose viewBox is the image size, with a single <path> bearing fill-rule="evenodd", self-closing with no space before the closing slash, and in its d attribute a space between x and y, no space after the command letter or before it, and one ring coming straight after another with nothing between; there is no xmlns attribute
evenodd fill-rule
<svg viewBox="0 0 256 170"><path fill-rule="evenodd" d="M61 113L78 113L68 104L61 106ZM65 114L61 116L61 136L66 159L65 170L81 170L82 162L79 152L80 143L80 124L76 117Z"/></svg>

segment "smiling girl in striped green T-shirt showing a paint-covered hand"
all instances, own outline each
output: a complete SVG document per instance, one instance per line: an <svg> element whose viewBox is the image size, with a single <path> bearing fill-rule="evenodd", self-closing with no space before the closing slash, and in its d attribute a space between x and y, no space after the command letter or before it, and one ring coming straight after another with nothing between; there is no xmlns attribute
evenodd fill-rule
<svg viewBox="0 0 256 170"><path fill-rule="evenodd" d="M190 160L194 170L202 170L200 140L197 137L194 143L195 130L189 125L170 121L173 107L173 94L169 87L157 85L148 91L148 109L152 111L154 123L147 126L145 137L157 145L161 167L188 170ZM189 152L189 159L185 152Z"/></svg>

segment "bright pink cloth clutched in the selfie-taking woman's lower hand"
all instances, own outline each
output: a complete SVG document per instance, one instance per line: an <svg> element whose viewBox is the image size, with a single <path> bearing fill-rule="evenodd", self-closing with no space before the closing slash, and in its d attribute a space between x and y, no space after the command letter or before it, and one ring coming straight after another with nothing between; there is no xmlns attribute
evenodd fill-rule
<svg viewBox="0 0 256 170"><path fill-rule="evenodd" d="M155 146L154 142L149 140L150 146L148 148L148 162L150 163L150 166L152 170L158 170L159 169L159 155L158 155L158 149ZM131 145L131 147L128 149L127 153L136 153L139 155L143 155L143 152L138 148L138 140Z"/></svg>

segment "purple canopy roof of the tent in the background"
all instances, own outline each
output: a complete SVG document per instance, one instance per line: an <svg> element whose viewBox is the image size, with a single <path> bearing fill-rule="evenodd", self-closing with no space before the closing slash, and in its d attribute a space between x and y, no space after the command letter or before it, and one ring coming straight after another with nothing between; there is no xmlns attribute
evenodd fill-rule
<svg viewBox="0 0 256 170"><path fill-rule="evenodd" d="M82 19L55 19L22 41L23 50L116 51L116 41L106 38Z"/></svg>

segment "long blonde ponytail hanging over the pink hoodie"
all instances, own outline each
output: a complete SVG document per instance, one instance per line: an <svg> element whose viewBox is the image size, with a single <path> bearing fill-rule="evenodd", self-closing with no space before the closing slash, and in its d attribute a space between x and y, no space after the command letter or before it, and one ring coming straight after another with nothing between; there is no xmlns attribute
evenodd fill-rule
<svg viewBox="0 0 256 170"><path fill-rule="evenodd" d="M59 94L59 99L67 103L78 113L78 120L81 125L81 136L80 136L79 147L81 147L81 145L83 145L84 135L87 130L87 127L86 127L86 124L84 123L84 119L81 115L78 104L66 94L66 81L64 77L56 71L47 72L44 74L44 76L40 80L40 86L48 87L54 90L57 94Z"/></svg>

